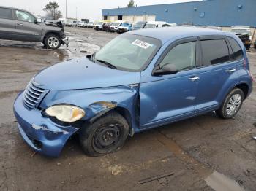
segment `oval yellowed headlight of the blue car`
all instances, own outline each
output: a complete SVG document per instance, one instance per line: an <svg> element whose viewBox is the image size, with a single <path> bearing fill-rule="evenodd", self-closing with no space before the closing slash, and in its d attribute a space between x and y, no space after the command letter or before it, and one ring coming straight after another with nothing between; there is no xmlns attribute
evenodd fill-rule
<svg viewBox="0 0 256 191"><path fill-rule="evenodd" d="M86 114L83 109L71 105L50 106L45 110L45 112L51 117L56 117L62 122L75 122L83 118L83 116Z"/></svg>

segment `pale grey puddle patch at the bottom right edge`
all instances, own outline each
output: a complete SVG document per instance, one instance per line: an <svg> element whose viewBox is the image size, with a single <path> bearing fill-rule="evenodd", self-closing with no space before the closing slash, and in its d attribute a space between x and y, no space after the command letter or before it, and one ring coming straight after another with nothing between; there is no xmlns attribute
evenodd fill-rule
<svg viewBox="0 0 256 191"><path fill-rule="evenodd" d="M214 173L208 176L205 181L209 187L217 191L244 191L237 182L217 171L214 171Z"/></svg>

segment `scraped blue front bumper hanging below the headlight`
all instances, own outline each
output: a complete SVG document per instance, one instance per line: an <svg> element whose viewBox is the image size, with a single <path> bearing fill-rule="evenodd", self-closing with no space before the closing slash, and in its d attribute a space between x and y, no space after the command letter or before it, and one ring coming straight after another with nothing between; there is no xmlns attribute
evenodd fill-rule
<svg viewBox="0 0 256 191"><path fill-rule="evenodd" d="M42 155L58 157L69 137L78 131L78 128L64 127L43 117L39 109L26 109L23 93L16 98L13 110L21 136L32 149Z"/></svg>

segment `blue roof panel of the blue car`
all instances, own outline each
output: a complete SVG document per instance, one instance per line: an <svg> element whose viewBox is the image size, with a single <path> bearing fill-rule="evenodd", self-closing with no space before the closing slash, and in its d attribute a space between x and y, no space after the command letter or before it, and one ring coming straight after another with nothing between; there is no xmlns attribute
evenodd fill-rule
<svg viewBox="0 0 256 191"><path fill-rule="evenodd" d="M225 35L227 33L210 28L173 26L164 28L141 29L137 31L130 31L127 34L148 36L151 38L159 39L162 41L162 44L165 44L165 42L176 37L186 38L191 36Z"/></svg>

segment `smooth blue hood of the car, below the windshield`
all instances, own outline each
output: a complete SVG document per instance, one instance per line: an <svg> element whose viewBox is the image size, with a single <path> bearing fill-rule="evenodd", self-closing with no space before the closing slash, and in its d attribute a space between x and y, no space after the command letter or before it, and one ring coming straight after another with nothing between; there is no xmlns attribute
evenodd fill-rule
<svg viewBox="0 0 256 191"><path fill-rule="evenodd" d="M139 83L140 72L110 69L90 61L89 58L79 58L40 71L34 77L34 82L46 90L113 87Z"/></svg>

